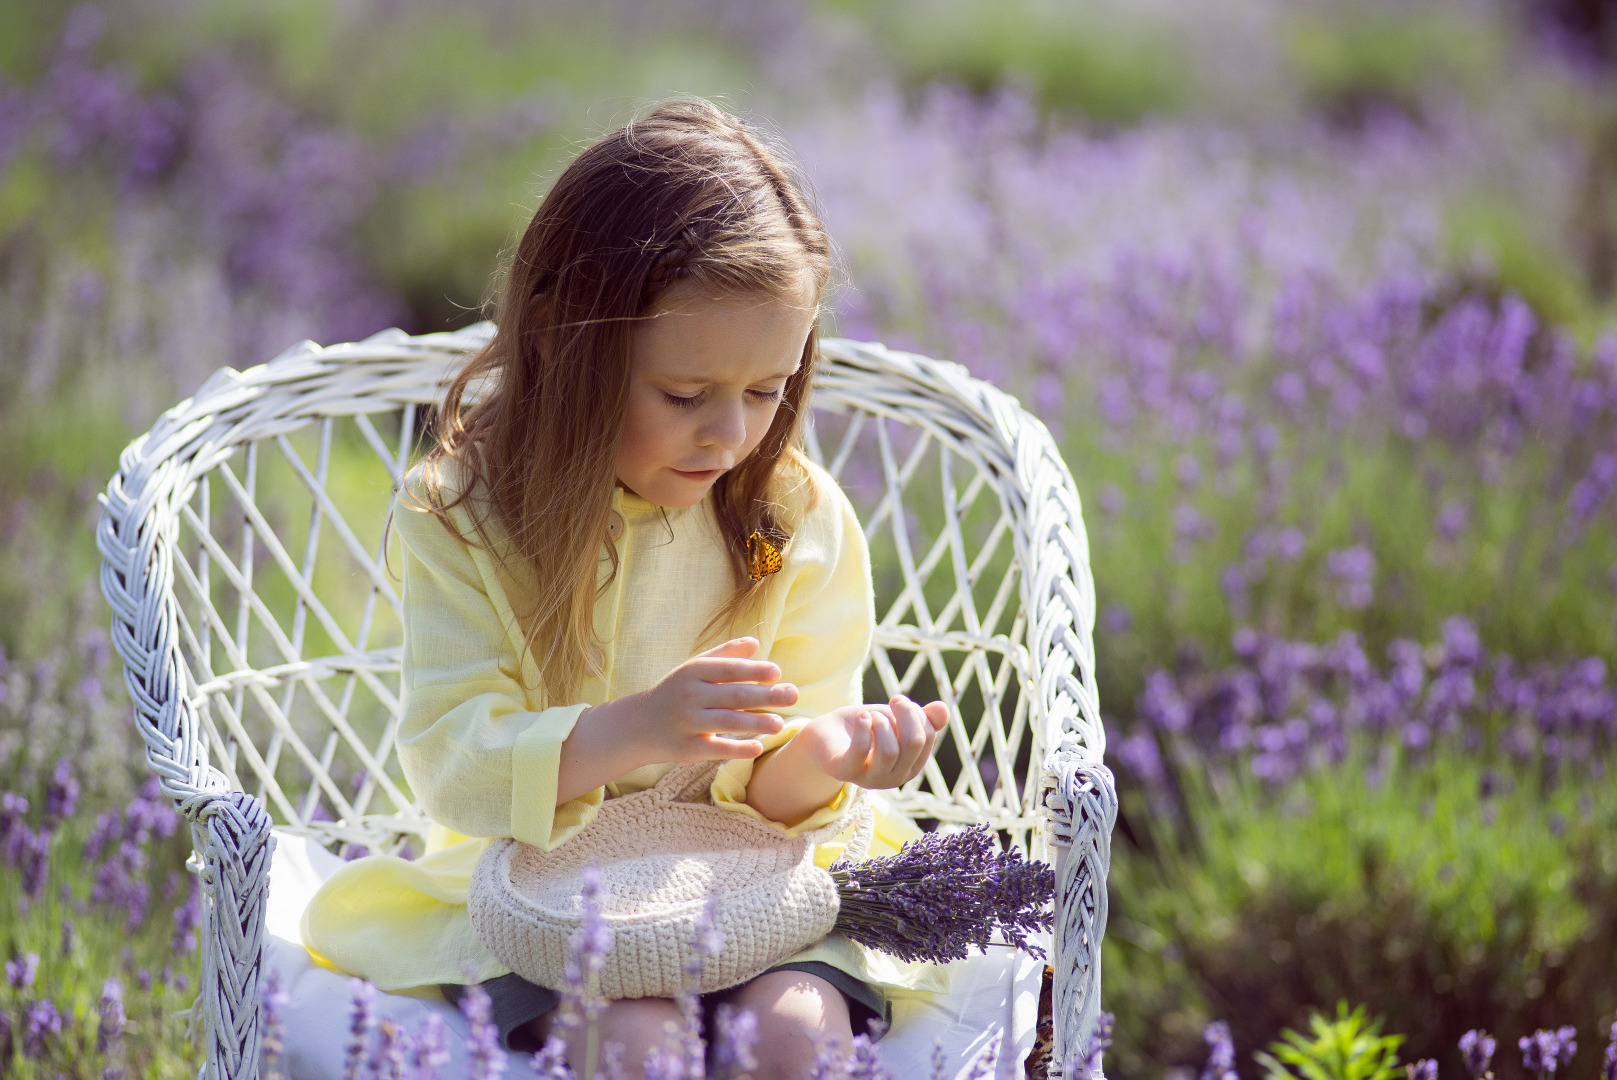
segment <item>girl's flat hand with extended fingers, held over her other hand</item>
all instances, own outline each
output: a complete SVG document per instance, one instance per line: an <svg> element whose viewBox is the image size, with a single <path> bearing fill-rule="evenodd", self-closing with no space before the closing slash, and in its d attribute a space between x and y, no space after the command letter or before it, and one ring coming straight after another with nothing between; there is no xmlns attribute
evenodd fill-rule
<svg viewBox="0 0 1617 1080"><path fill-rule="evenodd" d="M652 761L713 761L755 758L763 744L747 736L781 729L775 713L797 703L797 687L778 682L781 669L766 660L747 660L758 639L737 637L669 671L639 698L640 737Z"/></svg>

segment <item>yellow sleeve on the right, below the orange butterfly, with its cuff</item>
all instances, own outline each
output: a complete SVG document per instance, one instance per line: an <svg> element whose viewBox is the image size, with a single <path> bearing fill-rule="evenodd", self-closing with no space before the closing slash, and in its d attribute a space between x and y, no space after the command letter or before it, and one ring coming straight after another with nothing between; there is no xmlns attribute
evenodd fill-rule
<svg viewBox="0 0 1617 1080"><path fill-rule="evenodd" d="M758 761L815 716L863 700L862 673L875 632L870 551L859 517L830 475L810 475L818 500L802 514L781 571L791 577L781 582L763 619L775 626L768 658L779 664L784 681L797 686L797 703L781 710L786 726L763 740L763 755L726 761L711 787L715 805L760 821L770 818L747 805L747 784ZM820 828L836 815L846 792L844 784L830 804L786 831Z"/></svg>

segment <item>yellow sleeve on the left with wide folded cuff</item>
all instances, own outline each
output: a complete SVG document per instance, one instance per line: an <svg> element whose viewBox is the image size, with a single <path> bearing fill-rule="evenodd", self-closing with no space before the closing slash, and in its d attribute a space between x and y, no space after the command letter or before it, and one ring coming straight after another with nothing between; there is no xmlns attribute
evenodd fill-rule
<svg viewBox="0 0 1617 1080"><path fill-rule="evenodd" d="M399 763L433 821L548 849L602 800L595 791L556 807L561 744L587 703L545 707L493 556L419 509L419 474L409 480L393 519L404 558ZM461 508L451 517L469 534Z"/></svg>

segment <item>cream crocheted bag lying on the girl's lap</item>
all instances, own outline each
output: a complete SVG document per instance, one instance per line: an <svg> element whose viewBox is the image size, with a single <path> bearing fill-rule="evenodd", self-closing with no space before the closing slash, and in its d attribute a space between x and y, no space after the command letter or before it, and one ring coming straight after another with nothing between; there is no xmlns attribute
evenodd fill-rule
<svg viewBox="0 0 1617 1080"><path fill-rule="evenodd" d="M831 933L839 901L830 871L813 863L815 844L852 829L846 855L863 859L870 799L855 787L834 821L786 836L708 800L718 765L676 765L657 786L608 799L555 850L514 839L490 844L467 896L477 936L522 978L563 986L589 865L600 873L602 915L614 941L598 991L613 1001L673 998L686 986L708 896L724 947L700 957L700 993L737 986Z"/></svg>

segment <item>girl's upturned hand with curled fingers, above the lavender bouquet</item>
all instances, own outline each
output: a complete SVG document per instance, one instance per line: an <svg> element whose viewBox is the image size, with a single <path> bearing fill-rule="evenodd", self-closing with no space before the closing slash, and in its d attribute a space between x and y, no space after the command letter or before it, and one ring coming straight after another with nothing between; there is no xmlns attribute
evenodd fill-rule
<svg viewBox="0 0 1617 1080"><path fill-rule="evenodd" d="M897 787L927 765L949 723L943 702L922 708L902 694L888 705L849 705L792 739L825 774L860 787Z"/></svg>

